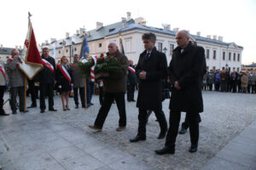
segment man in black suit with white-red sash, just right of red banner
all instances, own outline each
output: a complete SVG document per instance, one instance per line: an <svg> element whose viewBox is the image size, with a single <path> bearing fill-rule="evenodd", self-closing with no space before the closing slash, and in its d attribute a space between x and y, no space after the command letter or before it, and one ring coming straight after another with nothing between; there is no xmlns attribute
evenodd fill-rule
<svg viewBox="0 0 256 170"><path fill-rule="evenodd" d="M44 62L44 69L38 74L39 88L40 88L40 110L44 113L45 96L48 95L49 111L57 111L54 109L54 84L55 84L55 59L49 56L49 49L43 48L42 59Z"/></svg>

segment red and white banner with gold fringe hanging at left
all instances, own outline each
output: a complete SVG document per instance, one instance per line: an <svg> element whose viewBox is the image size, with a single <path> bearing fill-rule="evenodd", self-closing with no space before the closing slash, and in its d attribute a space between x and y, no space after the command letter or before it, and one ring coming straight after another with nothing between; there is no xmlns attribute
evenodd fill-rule
<svg viewBox="0 0 256 170"><path fill-rule="evenodd" d="M28 31L22 54L20 56L19 68L26 74L30 80L35 77L41 69L43 69L43 61L38 51L36 37L32 28L32 23L29 21Z"/></svg>

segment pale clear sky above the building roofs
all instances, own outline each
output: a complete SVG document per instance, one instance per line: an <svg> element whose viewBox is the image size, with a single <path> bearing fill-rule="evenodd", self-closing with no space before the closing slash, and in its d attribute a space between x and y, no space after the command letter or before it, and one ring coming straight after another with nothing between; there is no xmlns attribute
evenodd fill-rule
<svg viewBox="0 0 256 170"><path fill-rule="evenodd" d="M217 35L224 42L242 46L242 64L256 62L256 0L5 0L0 9L0 44L15 48L25 41L28 11L38 43L73 35L84 27L96 28L131 18L143 17L147 26L201 31L202 37Z"/></svg>

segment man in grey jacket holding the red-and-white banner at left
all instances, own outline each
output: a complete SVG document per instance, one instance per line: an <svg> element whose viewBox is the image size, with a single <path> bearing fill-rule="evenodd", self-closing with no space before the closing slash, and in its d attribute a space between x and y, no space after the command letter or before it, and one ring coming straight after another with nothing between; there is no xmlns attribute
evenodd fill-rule
<svg viewBox="0 0 256 170"><path fill-rule="evenodd" d="M8 71L8 77L9 77L9 87L10 87L10 105L11 110L13 114L16 114L17 110L17 102L16 97L17 94L19 94L19 107L20 112L28 112L24 111L24 82L25 82L25 75L20 70L20 63L22 62L20 60L19 51L16 49L13 49L11 51L11 58L7 60L7 71Z"/></svg>

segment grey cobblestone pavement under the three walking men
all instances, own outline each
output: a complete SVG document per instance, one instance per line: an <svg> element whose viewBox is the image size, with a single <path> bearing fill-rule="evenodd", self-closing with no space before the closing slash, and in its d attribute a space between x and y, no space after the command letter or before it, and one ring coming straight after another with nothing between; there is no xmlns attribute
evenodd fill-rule
<svg viewBox="0 0 256 170"><path fill-rule="evenodd" d="M137 92L136 92L137 96ZM7 96L5 96L7 97ZM256 120L256 94L230 94L218 92L203 92L204 112L201 113L202 122L200 123L200 141L199 148L195 154L188 152L190 141L189 133L177 136L177 147L175 155L156 156L154 150L164 146L165 139L157 139L160 133L158 122L155 122L155 116L149 118L147 125L147 140L138 143L130 143L129 139L137 134L137 115L136 103L126 102L127 127L123 132L116 132L118 127L118 110L116 105L112 105L108 117L104 124L102 133L92 132L88 125L93 124L97 112L100 108L98 96L93 96L92 103L87 110L82 108L74 109L73 99L70 99L71 111L62 111L60 96L55 97L55 108L57 112L46 112L42 119L49 120L44 123L45 126L51 126L53 123L64 122L67 126L74 127L83 131L92 139L98 142L108 144L115 150L123 151L129 156L143 161L154 169L172 170L172 169L201 169L207 161L218 153L218 150L224 148L226 144L235 138L243 129ZM30 103L27 101L27 103ZM169 118L168 110L169 100L163 102L163 111L166 118ZM5 110L9 111L9 105L5 105ZM18 113L20 114L20 113ZM28 115L39 113L39 109L30 109ZM182 114L181 120L184 120ZM9 116L15 117L15 116ZM2 117L0 117L1 119ZM10 118L8 118L10 119ZM34 124L37 128L37 123ZM0 127L4 127L4 124ZM1 128L0 128L1 129ZM70 133L72 138L73 133ZM107 151L107 155L111 151ZM1 162L1 161L0 161ZM103 168L102 168L103 169Z"/></svg>

